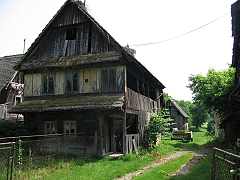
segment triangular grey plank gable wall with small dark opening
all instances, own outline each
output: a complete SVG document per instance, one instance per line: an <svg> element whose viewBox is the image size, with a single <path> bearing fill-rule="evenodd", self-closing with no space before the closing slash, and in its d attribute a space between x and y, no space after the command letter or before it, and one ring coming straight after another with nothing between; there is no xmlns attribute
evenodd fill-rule
<svg viewBox="0 0 240 180"><path fill-rule="evenodd" d="M30 55L29 60L42 61L61 56L116 50L109 39L103 35L103 32L100 32L98 27L91 24L90 20L72 5L60 14L53 27L49 28L52 29L49 29L48 34L46 32L46 37L37 46L37 50ZM76 28L76 39L66 40L66 30L68 28ZM91 32L91 35L89 32Z"/></svg>

